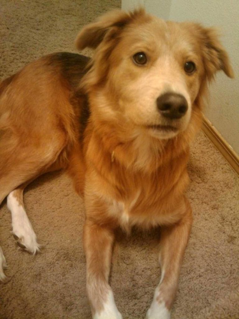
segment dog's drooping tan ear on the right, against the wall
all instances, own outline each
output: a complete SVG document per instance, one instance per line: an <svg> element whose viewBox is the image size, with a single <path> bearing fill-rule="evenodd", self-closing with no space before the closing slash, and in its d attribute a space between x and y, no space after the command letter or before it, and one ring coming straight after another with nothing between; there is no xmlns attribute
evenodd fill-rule
<svg viewBox="0 0 239 319"><path fill-rule="evenodd" d="M223 70L229 77L233 78L234 73L229 62L228 54L221 45L217 31L214 28L201 29L203 40L203 57L207 77L210 80L218 70Z"/></svg>

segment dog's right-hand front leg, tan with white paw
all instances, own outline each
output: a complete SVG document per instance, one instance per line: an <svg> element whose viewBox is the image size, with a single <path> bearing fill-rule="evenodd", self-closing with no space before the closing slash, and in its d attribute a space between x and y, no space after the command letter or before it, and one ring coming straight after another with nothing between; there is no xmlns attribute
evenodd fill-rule
<svg viewBox="0 0 239 319"><path fill-rule="evenodd" d="M185 214L174 225L162 227L161 280L146 319L170 319L170 310L176 295L180 267L192 226L192 210L185 199Z"/></svg>

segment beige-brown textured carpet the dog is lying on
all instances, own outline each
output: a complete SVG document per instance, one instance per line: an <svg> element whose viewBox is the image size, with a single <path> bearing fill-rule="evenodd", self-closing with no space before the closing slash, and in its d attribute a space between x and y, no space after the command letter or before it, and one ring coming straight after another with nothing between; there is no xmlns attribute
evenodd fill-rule
<svg viewBox="0 0 239 319"><path fill-rule="evenodd" d="M74 51L83 24L120 1L0 0L0 77L33 58ZM188 197L194 225L172 319L239 318L238 177L200 133L189 164ZM6 202L0 207L0 242L11 280L0 285L1 319L90 318L82 249L84 208L65 174L40 177L25 192L25 206L42 253L18 249ZM111 284L125 319L144 318L159 280L158 231L118 234Z"/></svg>

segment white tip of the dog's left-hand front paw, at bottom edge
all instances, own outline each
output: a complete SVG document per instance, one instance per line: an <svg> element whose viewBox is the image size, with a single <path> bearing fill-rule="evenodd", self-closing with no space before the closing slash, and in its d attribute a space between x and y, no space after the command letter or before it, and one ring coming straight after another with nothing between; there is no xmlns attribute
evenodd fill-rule
<svg viewBox="0 0 239 319"><path fill-rule="evenodd" d="M107 301L103 305L103 309L99 312L97 311L94 314L93 319L123 319L115 305L112 291L109 292Z"/></svg>

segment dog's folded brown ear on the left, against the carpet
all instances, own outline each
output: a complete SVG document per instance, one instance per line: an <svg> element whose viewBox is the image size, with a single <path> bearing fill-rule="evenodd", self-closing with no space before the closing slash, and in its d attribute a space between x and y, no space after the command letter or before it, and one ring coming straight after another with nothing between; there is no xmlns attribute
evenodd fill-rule
<svg viewBox="0 0 239 319"><path fill-rule="evenodd" d="M97 48L101 41L108 37L113 38L132 18L139 14L145 14L143 9L128 13L121 10L114 10L99 17L96 22L85 26L77 35L75 44L78 50L84 48Z"/></svg>

